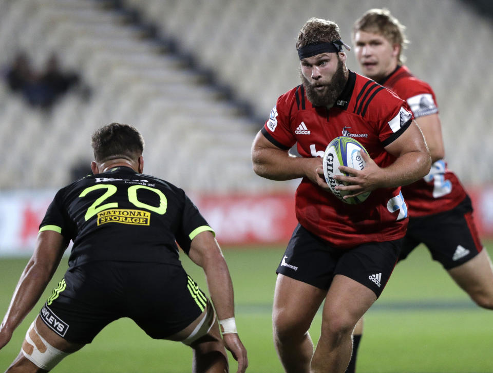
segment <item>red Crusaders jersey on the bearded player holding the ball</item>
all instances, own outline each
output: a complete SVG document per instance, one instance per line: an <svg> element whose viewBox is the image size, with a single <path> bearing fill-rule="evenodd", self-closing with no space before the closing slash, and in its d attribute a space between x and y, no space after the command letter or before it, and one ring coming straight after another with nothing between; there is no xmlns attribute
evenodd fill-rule
<svg viewBox="0 0 493 373"><path fill-rule="evenodd" d="M350 71L334 107L313 107L300 85L277 99L262 133L281 149L288 150L297 143L302 157L323 157L335 137L354 137L378 165L386 167L395 157L384 147L409 127L411 119L405 101ZM296 217L310 232L347 248L403 237L407 205L401 188L374 190L364 202L350 205L303 178L296 190Z"/></svg>

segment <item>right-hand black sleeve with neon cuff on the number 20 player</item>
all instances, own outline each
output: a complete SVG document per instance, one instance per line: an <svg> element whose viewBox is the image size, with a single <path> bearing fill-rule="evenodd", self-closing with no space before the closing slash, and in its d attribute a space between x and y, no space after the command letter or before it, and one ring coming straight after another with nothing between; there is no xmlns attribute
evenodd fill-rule
<svg viewBox="0 0 493 373"><path fill-rule="evenodd" d="M176 242L180 245L182 250L188 254L192 240L195 236L204 231L211 231L214 233L214 230L200 214L197 206L186 194L184 194L183 215L181 224L175 233Z"/></svg>

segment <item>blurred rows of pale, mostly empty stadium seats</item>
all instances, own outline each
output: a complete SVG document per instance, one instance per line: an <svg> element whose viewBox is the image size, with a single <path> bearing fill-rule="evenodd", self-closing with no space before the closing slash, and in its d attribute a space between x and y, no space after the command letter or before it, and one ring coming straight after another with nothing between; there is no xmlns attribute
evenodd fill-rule
<svg viewBox="0 0 493 373"><path fill-rule="evenodd" d="M107 3L107 2L106 2ZM354 18L388 7L408 26L412 71L430 82L441 108L449 167L466 183L493 179L488 167L493 129L487 125L493 93L493 27L457 0L124 0L127 9L157 27L161 39L193 55L198 66L250 102L253 116L231 105L208 76L191 69L128 22L121 10L94 0L0 0L0 66L19 49L41 67L52 51L91 87L89 100L72 92L51 113L28 107L0 85L0 189L56 188L67 170L92 158L91 132L112 121L139 128L146 139L145 172L198 192L275 191L251 169L250 147L276 98L299 84L294 43L311 16L335 20L350 43ZM453 27L451 27L453 25ZM470 56L464 58L465 55ZM352 52L348 67L358 71ZM485 88L483 88L485 87ZM479 137L481 143L476 140ZM467 141L469 140L469 141ZM482 172L471 167L471 159ZM15 178L12 177L15 175Z"/></svg>

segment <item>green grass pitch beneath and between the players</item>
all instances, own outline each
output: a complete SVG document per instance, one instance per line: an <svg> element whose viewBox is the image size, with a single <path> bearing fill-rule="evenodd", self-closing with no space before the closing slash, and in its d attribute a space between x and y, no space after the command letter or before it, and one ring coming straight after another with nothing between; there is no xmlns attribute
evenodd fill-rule
<svg viewBox="0 0 493 373"><path fill-rule="evenodd" d="M485 244L493 247L493 242ZM237 326L252 373L282 372L272 342L271 309L275 268L283 250L280 246L223 248L235 286ZM26 262L0 259L2 315ZM186 257L183 262L205 291L200 268ZM18 354L27 327L62 278L66 259L61 266L34 311L0 351L0 371ZM397 265L365 320L359 373L493 372L493 313L473 304L422 246ZM320 321L317 315L311 327L315 342ZM181 343L152 340L130 320L121 319L52 371L185 373L191 371L191 358L191 350ZM236 371L232 358L230 364Z"/></svg>

